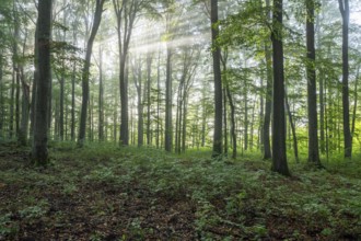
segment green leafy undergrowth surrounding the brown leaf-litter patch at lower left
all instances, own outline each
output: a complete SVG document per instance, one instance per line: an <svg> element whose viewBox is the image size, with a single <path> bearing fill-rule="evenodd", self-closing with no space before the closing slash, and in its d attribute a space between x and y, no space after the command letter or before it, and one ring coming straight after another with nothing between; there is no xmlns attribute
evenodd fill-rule
<svg viewBox="0 0 361 241"><path fill-rule="evenodd" d="M323 170L291 163L292 176L284 177L271 173L270 162L255 156L235 161L209 157L206 151L176 156L154 148L55 145L48 169L14 164L1 169L0 184L21 186L22 194L0 207L0 237L20 232L14 214L31 222L49 211L42 190L75 196L90 185L112 186L114 192L121 190L121 196L155 198L154 203L156 198L188 202L198 240L361 239L360 161L333 161ZM144 191L149 197L140 193ZM93 205L107 207L106 200L97 198ZM129 232L133 232L131 223ZM147 239L154 230L144 223L138 232ZM104 238L96 233L92 237Z"/></svg>

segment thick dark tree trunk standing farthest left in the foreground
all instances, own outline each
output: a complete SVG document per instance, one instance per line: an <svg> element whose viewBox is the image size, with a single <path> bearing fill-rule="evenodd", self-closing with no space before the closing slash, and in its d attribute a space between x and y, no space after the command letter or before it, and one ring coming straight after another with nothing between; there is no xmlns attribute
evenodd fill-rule
<svg viewBox="0 0 361 241"><path fill-rule="evenodd" d="M38 1L38 83L35 101L34 138L32 148L32 161L36 165L48 163L48 95L50 85L50 38L51 38L51 0ZM44 101L45 100L45 101Z"/></svg>

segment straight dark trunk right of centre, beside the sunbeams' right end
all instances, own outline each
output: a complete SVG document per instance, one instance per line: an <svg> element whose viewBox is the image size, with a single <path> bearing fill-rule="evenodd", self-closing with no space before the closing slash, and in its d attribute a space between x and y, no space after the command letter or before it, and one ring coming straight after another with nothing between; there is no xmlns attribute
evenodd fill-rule
<svg viewBox="0 0 361 241"><path fill-rule="evenodd" d="M222 77L221 77L221 50L217 39L219 37L218 26L218 0L211 0L211 32L212 32L212 58L214 74L214 133L212 157L222 154Z"/></svg>

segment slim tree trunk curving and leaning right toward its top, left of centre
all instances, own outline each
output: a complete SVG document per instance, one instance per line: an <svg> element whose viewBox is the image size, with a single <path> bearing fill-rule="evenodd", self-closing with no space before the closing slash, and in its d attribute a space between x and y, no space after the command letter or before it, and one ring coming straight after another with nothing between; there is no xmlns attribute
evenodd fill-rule
<svg viewBox="0 0 361 241"><path fill-rule="evenodd" d="M78 146L83 147L85 141L85 129L86 129L86 113L88 113L88 103L89 103L89 76L90 76L90 61L92 57L93 43L95 39L95 35L101 25L102 13L103 13L103 4L105 0L96 0L94 21L92 26L91 35L88 39L86 45L86 54L85 61L82 72L82 105L81 105L81 114L80 114L80 126L79 126L79 135L78 135Z"/></svg>

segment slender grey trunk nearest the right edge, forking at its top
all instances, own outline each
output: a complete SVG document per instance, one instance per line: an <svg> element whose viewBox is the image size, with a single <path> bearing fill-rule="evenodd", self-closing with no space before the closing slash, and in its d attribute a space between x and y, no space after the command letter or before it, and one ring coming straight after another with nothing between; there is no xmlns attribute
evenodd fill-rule
<svg viewBox="0 0 361 241"><path fill-rule="evenodd" d="M349 113L349 0L338 0L342 15L342 117L343 117L343 151L345 158L352 156L352 137L350 133Z"/></svg>

